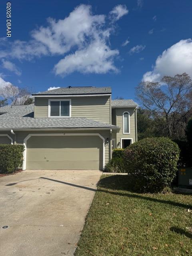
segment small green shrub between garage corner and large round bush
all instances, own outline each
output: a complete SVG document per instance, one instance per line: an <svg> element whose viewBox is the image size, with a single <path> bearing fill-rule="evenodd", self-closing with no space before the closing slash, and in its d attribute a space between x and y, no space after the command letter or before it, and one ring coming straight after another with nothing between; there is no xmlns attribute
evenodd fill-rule
<svg viewBox="0 0 192 256"><path fill-rule="evenodd" d="M122 148L113 150L112 159L105 166L106 172L126 172L124 152L125 150Z"/></svg>

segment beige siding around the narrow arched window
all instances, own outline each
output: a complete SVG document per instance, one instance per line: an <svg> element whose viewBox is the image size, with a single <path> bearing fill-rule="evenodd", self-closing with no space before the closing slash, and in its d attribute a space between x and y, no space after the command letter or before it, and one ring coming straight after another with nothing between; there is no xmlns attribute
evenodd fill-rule
<svg viewBox="0 0 192 256"><path fill-rule="evenodd" d="M130 113L130 134L123 134L123 112L128 111ZM132 141L136 141L136 129L135 129L135 108L115 108L113 109L114 119L116 117L116 126L120 127L120 131L112 134L112 138L116 138L116 144L120 142L121 138L132 138ZM112 120L113 120L112 112ZM115 114L116 113L116 114Z"/></svg>

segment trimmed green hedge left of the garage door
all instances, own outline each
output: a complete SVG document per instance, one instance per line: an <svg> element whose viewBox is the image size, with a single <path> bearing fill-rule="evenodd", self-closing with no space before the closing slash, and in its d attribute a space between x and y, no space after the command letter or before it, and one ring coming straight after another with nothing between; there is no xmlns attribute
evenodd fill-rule
<svg viewBox="0 0 192 256"><path fill-rule="evenodd" d="M0 172L14 172L22 166L23 151L23 145L0 144Z"/></svg>

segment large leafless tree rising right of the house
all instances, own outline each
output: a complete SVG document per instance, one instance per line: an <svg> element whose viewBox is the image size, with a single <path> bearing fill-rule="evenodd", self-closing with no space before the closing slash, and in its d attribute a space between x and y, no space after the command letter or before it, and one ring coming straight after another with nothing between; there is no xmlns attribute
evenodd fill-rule
<svg viewBox="0 0 192 256"><path fill-rule="evenodd" d="M185 136L186 122L192 114L192 80L188 74L164 76L160 82L141 82L136 94L160 121L162 135L173 139Z"/></svg>

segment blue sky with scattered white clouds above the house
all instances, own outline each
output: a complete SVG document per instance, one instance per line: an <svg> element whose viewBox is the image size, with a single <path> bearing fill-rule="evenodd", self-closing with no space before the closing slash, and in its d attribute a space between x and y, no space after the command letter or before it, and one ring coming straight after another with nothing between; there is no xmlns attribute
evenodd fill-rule
<svg viewBox="0 0 192 256"><path fill-rule="evenodd" d="M0 2L1 87L111 86L113 98L135 99L142 79L192 76L190 0L11 1L11 38L6 2Z"/></svg>

